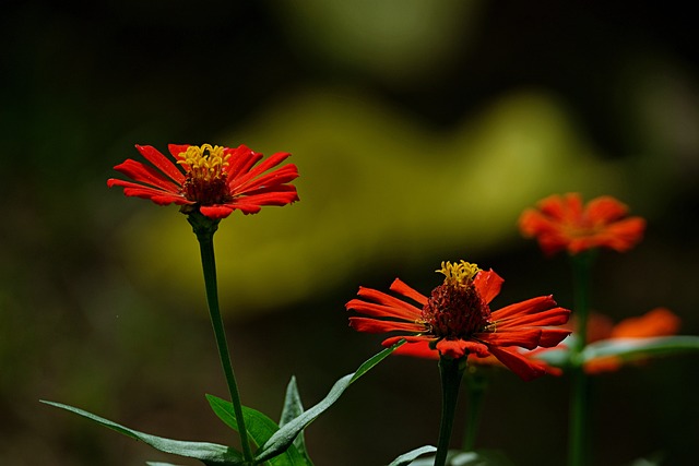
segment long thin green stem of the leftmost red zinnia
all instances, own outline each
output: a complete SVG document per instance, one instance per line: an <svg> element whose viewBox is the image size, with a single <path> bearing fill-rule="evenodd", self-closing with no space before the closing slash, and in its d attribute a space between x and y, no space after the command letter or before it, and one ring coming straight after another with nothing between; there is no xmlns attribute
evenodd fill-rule
<svg viewBox="0 0 699 466"><path fill-rule="evenodd" d="M209 315L214 328L216 347L218 348L218 357L221 366L228 384L230 402L236 415L238 423L238 434L242 446L242 456L248 464L252 464L252 451L248 440L248 431L245 427L245 418L242 416L242 404L240 403L240 394L238 393L238 384L236 375L230 363L230 355L228 344L226 342L226 332L218 308L218 286L216 284L216 260L214 255L214 232L218 228L220 220L212 220L204 217L199 212L188 215L187 219L192 225L197 239L199 240L199 249L201 251L201 265L204 272L204 286L206 288L206 303L209 304Z"/></svg>

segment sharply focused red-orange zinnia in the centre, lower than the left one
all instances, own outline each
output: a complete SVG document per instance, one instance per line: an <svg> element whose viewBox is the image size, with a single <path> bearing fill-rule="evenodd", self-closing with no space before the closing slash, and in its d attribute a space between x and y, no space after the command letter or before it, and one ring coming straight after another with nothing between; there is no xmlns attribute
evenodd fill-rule
<svg viewBox="0 0 699 466"><path fill-rule="evenodd" d="M490 301L500 292L502 278L490 271L461 261L442 262L437 272L445 282L426 297L396 278L390 289L420 304L417 308L384 292L360 287L347 309L368 315L351 316L350 325L359 332L401 332L383 340L391 346L407 343L398 354L417 357L462 358L495 356L524 380L543 375L542 365L522 356L517 347L553 347L570 334L565 328L549 328L568 321L570 311L559 308L552 296L542 296L490 311ZM366 299L366 301L364 300ZM374 301L374 302L370 302Z"/></svg>

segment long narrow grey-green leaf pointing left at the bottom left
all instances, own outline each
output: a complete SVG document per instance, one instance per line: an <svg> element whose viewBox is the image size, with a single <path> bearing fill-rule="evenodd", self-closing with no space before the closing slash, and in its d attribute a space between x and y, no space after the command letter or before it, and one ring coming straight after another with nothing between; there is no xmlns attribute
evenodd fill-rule
<svg viewBox="0 0 699 466"><path fill-rule="evenodd" d="M116 422L100 418L99 416L95 416L91 413L74 408L72 406L45 401L42 401L42 403L80 415L104 427L114 429L127 437L140 440L143 443L146 443L155 450L164 453L170 453L173 455L199 459L208 466L235 466L244 464L242 455L236 450L228 446L218 445L215 443L163 439L161 437L155 437L149 433L139 432L138 430L129 429L127 427L120 426Z"/></svg>

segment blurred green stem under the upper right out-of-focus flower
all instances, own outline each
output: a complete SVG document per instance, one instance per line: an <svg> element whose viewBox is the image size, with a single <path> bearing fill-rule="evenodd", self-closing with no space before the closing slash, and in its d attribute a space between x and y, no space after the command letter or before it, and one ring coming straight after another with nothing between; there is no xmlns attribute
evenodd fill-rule
<svg viewBox="0 0 699 466"><path fill-rule="evenodd" d="M588 339L588 312L590 297L590 275L594 250L572 256L573 272L573 312L576 314L577 340L571 347L571 399L569 457L570 466L589 464L588 418L590 411L589 380L582 367L581 356Z"/></svg>

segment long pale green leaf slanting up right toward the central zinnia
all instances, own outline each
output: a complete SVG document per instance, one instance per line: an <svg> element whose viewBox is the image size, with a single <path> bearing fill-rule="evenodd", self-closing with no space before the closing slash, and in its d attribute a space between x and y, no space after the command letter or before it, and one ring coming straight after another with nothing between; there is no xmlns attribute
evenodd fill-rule
<svg viewBox="0 0 699 466"><path fill-rule="evenodd" d="M402 339L390 348L386 348L381 353L375 355L365 361L356 372L347 374L340 379L330 389L328 395L320 401L316 406L311 407L307 411L304 411L300 416L294 418L289 422L285 423L280 430L277 430L271 438L268 440L264 445L256 453L256 463L263 463L266 459L277 455L280 452L286 450L294 439L318 416L324 413L328 408L330 408L344 393L347 387L359 379L362 375L367 373L371 368L386 359L391 353L393 353L399 346L404 344L405 340Z"/></svg>

